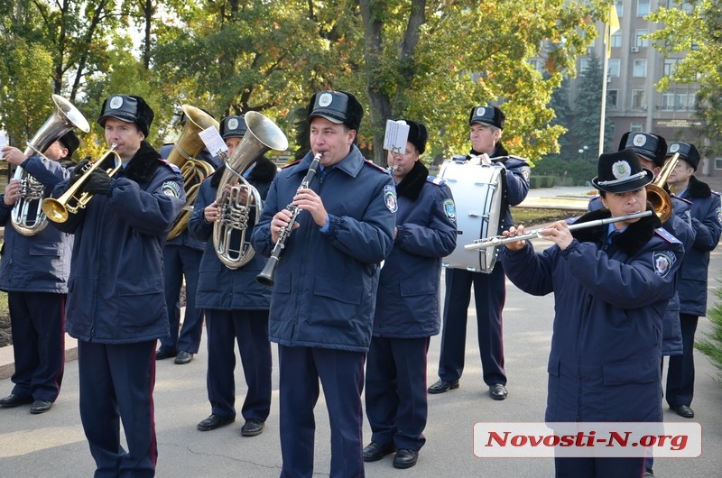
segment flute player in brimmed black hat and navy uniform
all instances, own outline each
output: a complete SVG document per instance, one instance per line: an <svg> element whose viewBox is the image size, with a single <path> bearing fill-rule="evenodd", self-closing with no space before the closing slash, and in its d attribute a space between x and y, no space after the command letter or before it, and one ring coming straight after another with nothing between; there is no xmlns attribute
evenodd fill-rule
<svg viewBox="0 0 722 478"><path fill-rule="evenodd" d="M542 253L511 240L500 259L521 290L554 293L545 420L661 422L662 317L684 247L659 217L640 216L652 210L645 187L653 172L634 150L602 154L597 171L592 184L604 208L581 216L573 232L563 221L543 228L539 234L554 245ZM523 238L523 226L509 234ZM644 457L557 456L555 467L557 476L636 478Z"/></svg>

